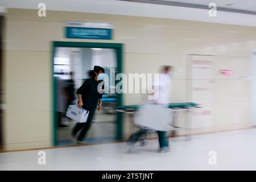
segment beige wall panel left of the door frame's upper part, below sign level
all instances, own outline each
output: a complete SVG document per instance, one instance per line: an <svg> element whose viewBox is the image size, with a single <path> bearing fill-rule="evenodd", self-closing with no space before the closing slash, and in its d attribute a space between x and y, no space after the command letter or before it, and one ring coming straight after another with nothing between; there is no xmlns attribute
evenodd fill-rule
<svg viewBox="0 0 256 182"><path fill-rule="evenodd" d="M6 81L51 81L51 52L8 51Z"/></svg>

